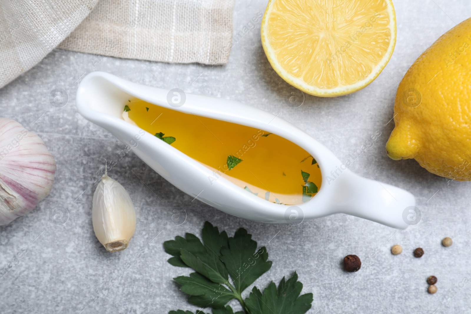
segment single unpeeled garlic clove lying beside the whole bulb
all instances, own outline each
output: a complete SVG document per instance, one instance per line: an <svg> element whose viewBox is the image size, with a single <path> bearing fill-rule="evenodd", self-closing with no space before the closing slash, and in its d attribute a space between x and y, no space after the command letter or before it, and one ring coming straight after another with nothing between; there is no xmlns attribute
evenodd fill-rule
<svg viewBox="0 0 471 314"><path fill-rule="evenodd" d="M126 249L136 231L136 211L128 192L106 173L93 194L92 222L98 241L110 252Z"/></svg>

